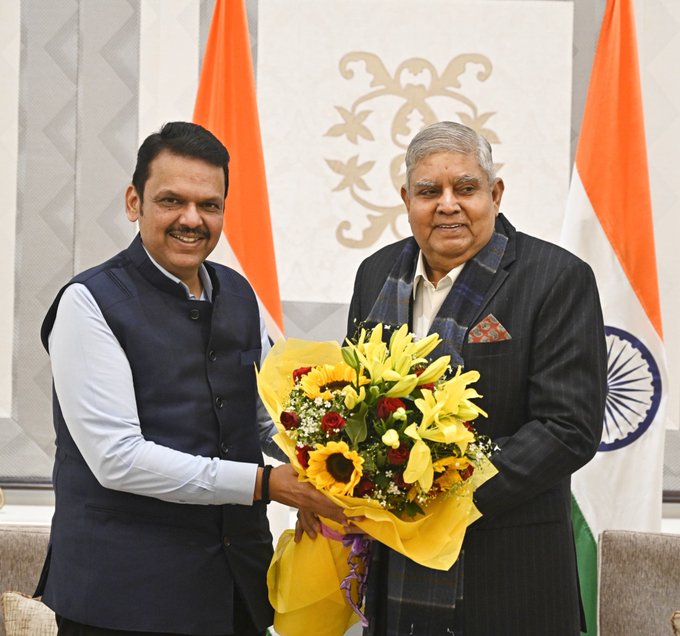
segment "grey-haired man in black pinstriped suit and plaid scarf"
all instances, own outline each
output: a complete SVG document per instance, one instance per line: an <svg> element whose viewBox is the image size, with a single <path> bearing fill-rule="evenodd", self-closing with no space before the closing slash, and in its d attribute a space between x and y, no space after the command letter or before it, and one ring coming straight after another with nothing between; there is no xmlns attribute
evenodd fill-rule
<svg viewBox="0 0 680 636"><path fill-rule="evenodd" d="M371 636L575 636L583 622L570 476L596 452L606 395L604 326L590 267L499 213L491 147L466 126L420 131L402 198L413 237L359 267L349 333L408 323L476 369L500 450L475 493L483 517L448 572L376 545Z"/></svg>

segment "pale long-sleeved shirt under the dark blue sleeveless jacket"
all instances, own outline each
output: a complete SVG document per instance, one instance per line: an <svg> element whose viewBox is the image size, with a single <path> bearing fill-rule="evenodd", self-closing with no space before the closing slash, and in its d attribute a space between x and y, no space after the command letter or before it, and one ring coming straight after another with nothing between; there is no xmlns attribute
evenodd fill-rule
<svg viewBox="0 0 680 636"><path fill-rule="evenodd" d="M181 282L151 260L166 276ZM199 274L201 300L210 300L212 284L205 267ZM194 298L184 286L187 296ZM270 344L261 316L264 359ZM252 504L256 464L195 456L143 437L127 356L84 285L70 285L62 295L49 347L64 419L102 486L176 503ZM284 459L271 439L276 427L259 397L257 414L263 450Z"/></svg>

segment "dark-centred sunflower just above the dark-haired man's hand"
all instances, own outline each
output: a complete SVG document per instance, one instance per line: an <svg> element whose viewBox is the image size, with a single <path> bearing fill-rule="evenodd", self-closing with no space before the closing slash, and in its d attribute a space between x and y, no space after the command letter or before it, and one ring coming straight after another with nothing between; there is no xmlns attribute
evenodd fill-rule
<svg viewBox="0 0 680 636"><path fill-rule="evenodd" d="M307 477L320 490L334 495L350 495L363 475L363 457L346 442L317 444L309 453Z"/></svg>

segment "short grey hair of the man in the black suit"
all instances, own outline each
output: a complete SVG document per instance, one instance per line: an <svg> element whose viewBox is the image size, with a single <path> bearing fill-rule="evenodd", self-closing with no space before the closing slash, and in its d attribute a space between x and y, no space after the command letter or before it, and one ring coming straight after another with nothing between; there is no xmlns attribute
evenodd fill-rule
<svg viewBox="0 0 680 636"><path fill-rule="evenodd" d="M406 187L410 188L411 171L424 157L437 152L460 152L477 159L486 173L489 187L496 181L491 144L468 126L453 121L440 121L423 128L406 150Z"/></svg>

